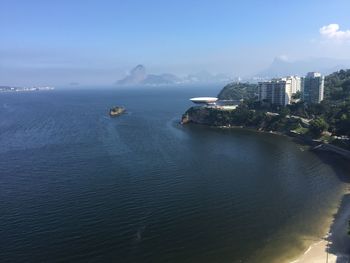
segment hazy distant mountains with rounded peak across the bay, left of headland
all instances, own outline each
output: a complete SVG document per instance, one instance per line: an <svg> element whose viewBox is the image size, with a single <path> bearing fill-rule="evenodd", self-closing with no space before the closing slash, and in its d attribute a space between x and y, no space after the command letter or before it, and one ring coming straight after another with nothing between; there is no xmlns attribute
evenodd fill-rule
<svg viewBox="0 0 350 263"><path fill-rule="evenodd" d="M120 86L162 86L162 85L177 85L177 84L191 84L191 83L218 83L230 82L232 78L227 75L219 74L213 75L207 71L201 71L196 74L191 74L185 77L178 77L174 74L147 74L146 68L143 65L137 65L130 73L117 81Z"/></svg>

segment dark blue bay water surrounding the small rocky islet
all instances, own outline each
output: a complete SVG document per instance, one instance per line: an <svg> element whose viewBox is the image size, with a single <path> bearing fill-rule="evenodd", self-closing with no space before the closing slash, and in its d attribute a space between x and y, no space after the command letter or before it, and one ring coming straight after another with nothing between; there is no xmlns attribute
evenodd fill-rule
<svg viewBox="0 0 350 263"><path fill-rule="evenodd" d="M179 124L219 91L0 94L0 262L280 263L322 237L341 172L286 137Z"/></svg>

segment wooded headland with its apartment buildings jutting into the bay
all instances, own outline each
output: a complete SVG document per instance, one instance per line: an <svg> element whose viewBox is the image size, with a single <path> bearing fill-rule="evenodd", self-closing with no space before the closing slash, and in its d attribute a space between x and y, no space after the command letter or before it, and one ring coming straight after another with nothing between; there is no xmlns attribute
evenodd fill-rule
<svg viewBox="0 0 350 263"><path fill-rule="evenodd" d="M221 90L217 103L189 108L181 123L281 133L313 145L323 143L350 150L350 70L340 70L324 80L318 76L314 79L322 83L315 85L315 80L305 78L300 81L304 87L299 86L293 94L286 91L285 95L280 91L292 89L285 79L259 84L232 83ZM307 81L321 94L315 100L308 101ZM309 91L310 96L317 92ZM241 99L237 107L222 106L237 99Z"/></svg>

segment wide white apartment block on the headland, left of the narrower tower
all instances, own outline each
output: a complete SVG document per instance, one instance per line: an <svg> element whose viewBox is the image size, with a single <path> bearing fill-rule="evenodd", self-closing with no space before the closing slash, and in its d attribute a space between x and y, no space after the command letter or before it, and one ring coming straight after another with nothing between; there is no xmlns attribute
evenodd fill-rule
<svg viewBox="0 0 350 263"><path fill-rule="evenodd" d="M260 101L286 106L290 104L292 95L292 80L290 78L259 82Z"/></svg>

